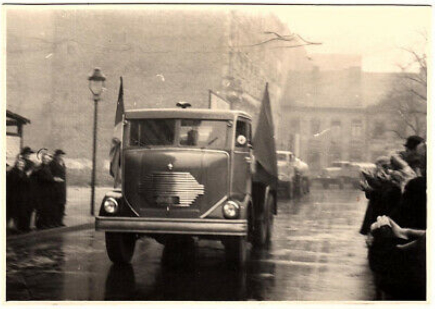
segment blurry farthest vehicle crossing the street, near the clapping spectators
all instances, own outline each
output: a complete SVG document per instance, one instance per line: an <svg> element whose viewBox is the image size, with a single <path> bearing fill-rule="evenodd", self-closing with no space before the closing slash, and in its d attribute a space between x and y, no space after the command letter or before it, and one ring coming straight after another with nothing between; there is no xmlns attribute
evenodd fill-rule
<svg viewBox="0 0 435 309"><path fill-rule="evenodd" d="M373 168L375 165L369 162L334 161L330 167L321 171L318 180L321 181L325 189L332 184L338 185L340 189L344 188L345 184L358 188L361 171Z"/></svg>

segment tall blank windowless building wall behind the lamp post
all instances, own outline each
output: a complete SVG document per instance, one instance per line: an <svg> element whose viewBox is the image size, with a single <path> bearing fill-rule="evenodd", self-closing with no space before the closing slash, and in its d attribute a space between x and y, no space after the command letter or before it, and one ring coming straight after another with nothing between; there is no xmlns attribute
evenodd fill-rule
<svg viewBox="0 0 435 309"><path fill-rule="evenodd" d="M107 161L120 76L126 109L174 107L177 101L207 108L212 90L254 118L268 82L278 123L289 65L295 63L286 59L300 50L256 46L268 39L265 31L289 32L273 15L226 7L9 9L7 107L32 119L25 144L64 149L80 162L74 166L84 167L70 173L85 181L94 112L87 76L100 67L107 90L98 106L97 179L110 182Z"/></svg>

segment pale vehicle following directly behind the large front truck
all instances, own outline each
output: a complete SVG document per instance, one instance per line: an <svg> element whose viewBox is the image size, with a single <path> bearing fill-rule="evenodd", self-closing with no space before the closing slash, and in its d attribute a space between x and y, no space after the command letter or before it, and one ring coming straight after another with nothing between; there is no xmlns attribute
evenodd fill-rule
<svg viewBox="0 0 435 309"><path fill-rule="evenodd" d="M310 191L308 164L296 158L291 151L277 151L278 188L288 198Z"/></svg>

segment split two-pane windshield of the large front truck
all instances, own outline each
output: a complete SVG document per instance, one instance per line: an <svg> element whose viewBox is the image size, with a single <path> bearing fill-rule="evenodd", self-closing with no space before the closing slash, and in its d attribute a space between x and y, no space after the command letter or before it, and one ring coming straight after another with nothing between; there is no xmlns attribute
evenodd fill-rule
<svg viewBox="0 0 435 309"><path fill-rule="evenodd" d="M201 119L140 119L130 121L129 146L224 148L227 121Z"/></svg>

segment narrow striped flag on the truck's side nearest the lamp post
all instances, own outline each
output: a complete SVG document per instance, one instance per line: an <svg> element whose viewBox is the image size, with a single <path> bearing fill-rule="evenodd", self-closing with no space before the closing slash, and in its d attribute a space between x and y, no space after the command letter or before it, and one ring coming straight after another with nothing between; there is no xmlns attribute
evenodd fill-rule
<svg viewBox="0 0 435 309"><path fill-rule="evenodd" d="M114 178L114 188L121 184L121 145L122 145L122 117L124 115L124 89L120 77L118 102L116 106L115 128L110 146L110 175Z"/></svg>

